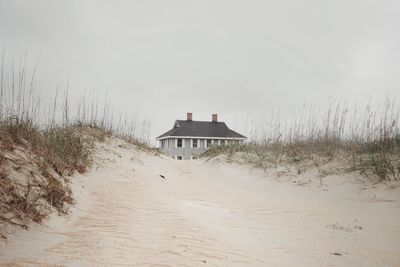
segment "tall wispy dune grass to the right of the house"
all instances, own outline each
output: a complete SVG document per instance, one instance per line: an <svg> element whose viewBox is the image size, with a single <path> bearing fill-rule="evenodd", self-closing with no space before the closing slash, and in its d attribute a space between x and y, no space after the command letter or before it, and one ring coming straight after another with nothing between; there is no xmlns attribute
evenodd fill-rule
<svg viewBox="0 0 400 267"><path fill-rule="evenodd" d="M310 113L303 123L297 120L286 129L276 120L269 129L253 130L262 138L247 144L215 146L202 156L226 155L232 160L240 155L241 160L256 168L289 165L299 174L304 166L320 168L335 162L338 171L357 172L374 183L399 182L400 109L386 101L380 112L369 107L365 110L352 114L339 105L325 115Z"/></svg>

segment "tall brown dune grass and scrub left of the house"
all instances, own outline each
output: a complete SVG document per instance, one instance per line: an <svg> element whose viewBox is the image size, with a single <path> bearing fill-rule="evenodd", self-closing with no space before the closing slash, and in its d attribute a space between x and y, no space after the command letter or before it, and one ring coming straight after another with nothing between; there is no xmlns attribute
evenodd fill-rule
<svg viewBox="0 0 400 267"><path fill-rule="evenodd" d="M110 104L83 96L74 108L68 84L43 104L36 67L0 69L0 237L7 226L28 228L51 212L68 213L69 177L92 164L94 143L117 136L149 150L149 124L113 118ZM88 101L90 100L90 101ZM115 123L117 121L117 123Z"/></svg>

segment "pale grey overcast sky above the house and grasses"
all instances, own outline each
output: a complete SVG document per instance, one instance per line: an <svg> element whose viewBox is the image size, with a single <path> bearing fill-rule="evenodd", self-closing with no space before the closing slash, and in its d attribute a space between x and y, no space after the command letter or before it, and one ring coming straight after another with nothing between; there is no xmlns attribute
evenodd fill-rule
<svg viewBox="0 0 400 267"><path fill-rule="evenodd" d="M0 0L0 42L40 56L42 91L108 91L153 138L187 111L240 128L303 102L400 98L398 0Z"/></svg>

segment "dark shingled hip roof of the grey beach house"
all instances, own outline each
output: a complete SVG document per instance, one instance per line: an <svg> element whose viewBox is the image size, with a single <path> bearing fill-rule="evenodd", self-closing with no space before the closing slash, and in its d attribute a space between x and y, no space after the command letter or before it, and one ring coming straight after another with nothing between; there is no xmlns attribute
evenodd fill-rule
<svg viewBox="0 0 400 267"><path fill-rule="evenodd" d="M246 138L229 129L225 122L185 120L177 120L172 130L160 135L156 139L168 136Z"/></svg>

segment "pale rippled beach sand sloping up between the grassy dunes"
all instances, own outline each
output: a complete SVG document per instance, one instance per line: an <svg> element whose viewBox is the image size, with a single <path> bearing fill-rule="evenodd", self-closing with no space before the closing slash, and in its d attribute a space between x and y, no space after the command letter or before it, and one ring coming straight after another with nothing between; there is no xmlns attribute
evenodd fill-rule
<svg viewBox="0 0 400 267"><path fill-rule="evenodd" d="M3 265L400 266L397 189L299 186L117 139L97 149L93 170L72 177L70 215L15 231Z"/></svg>

